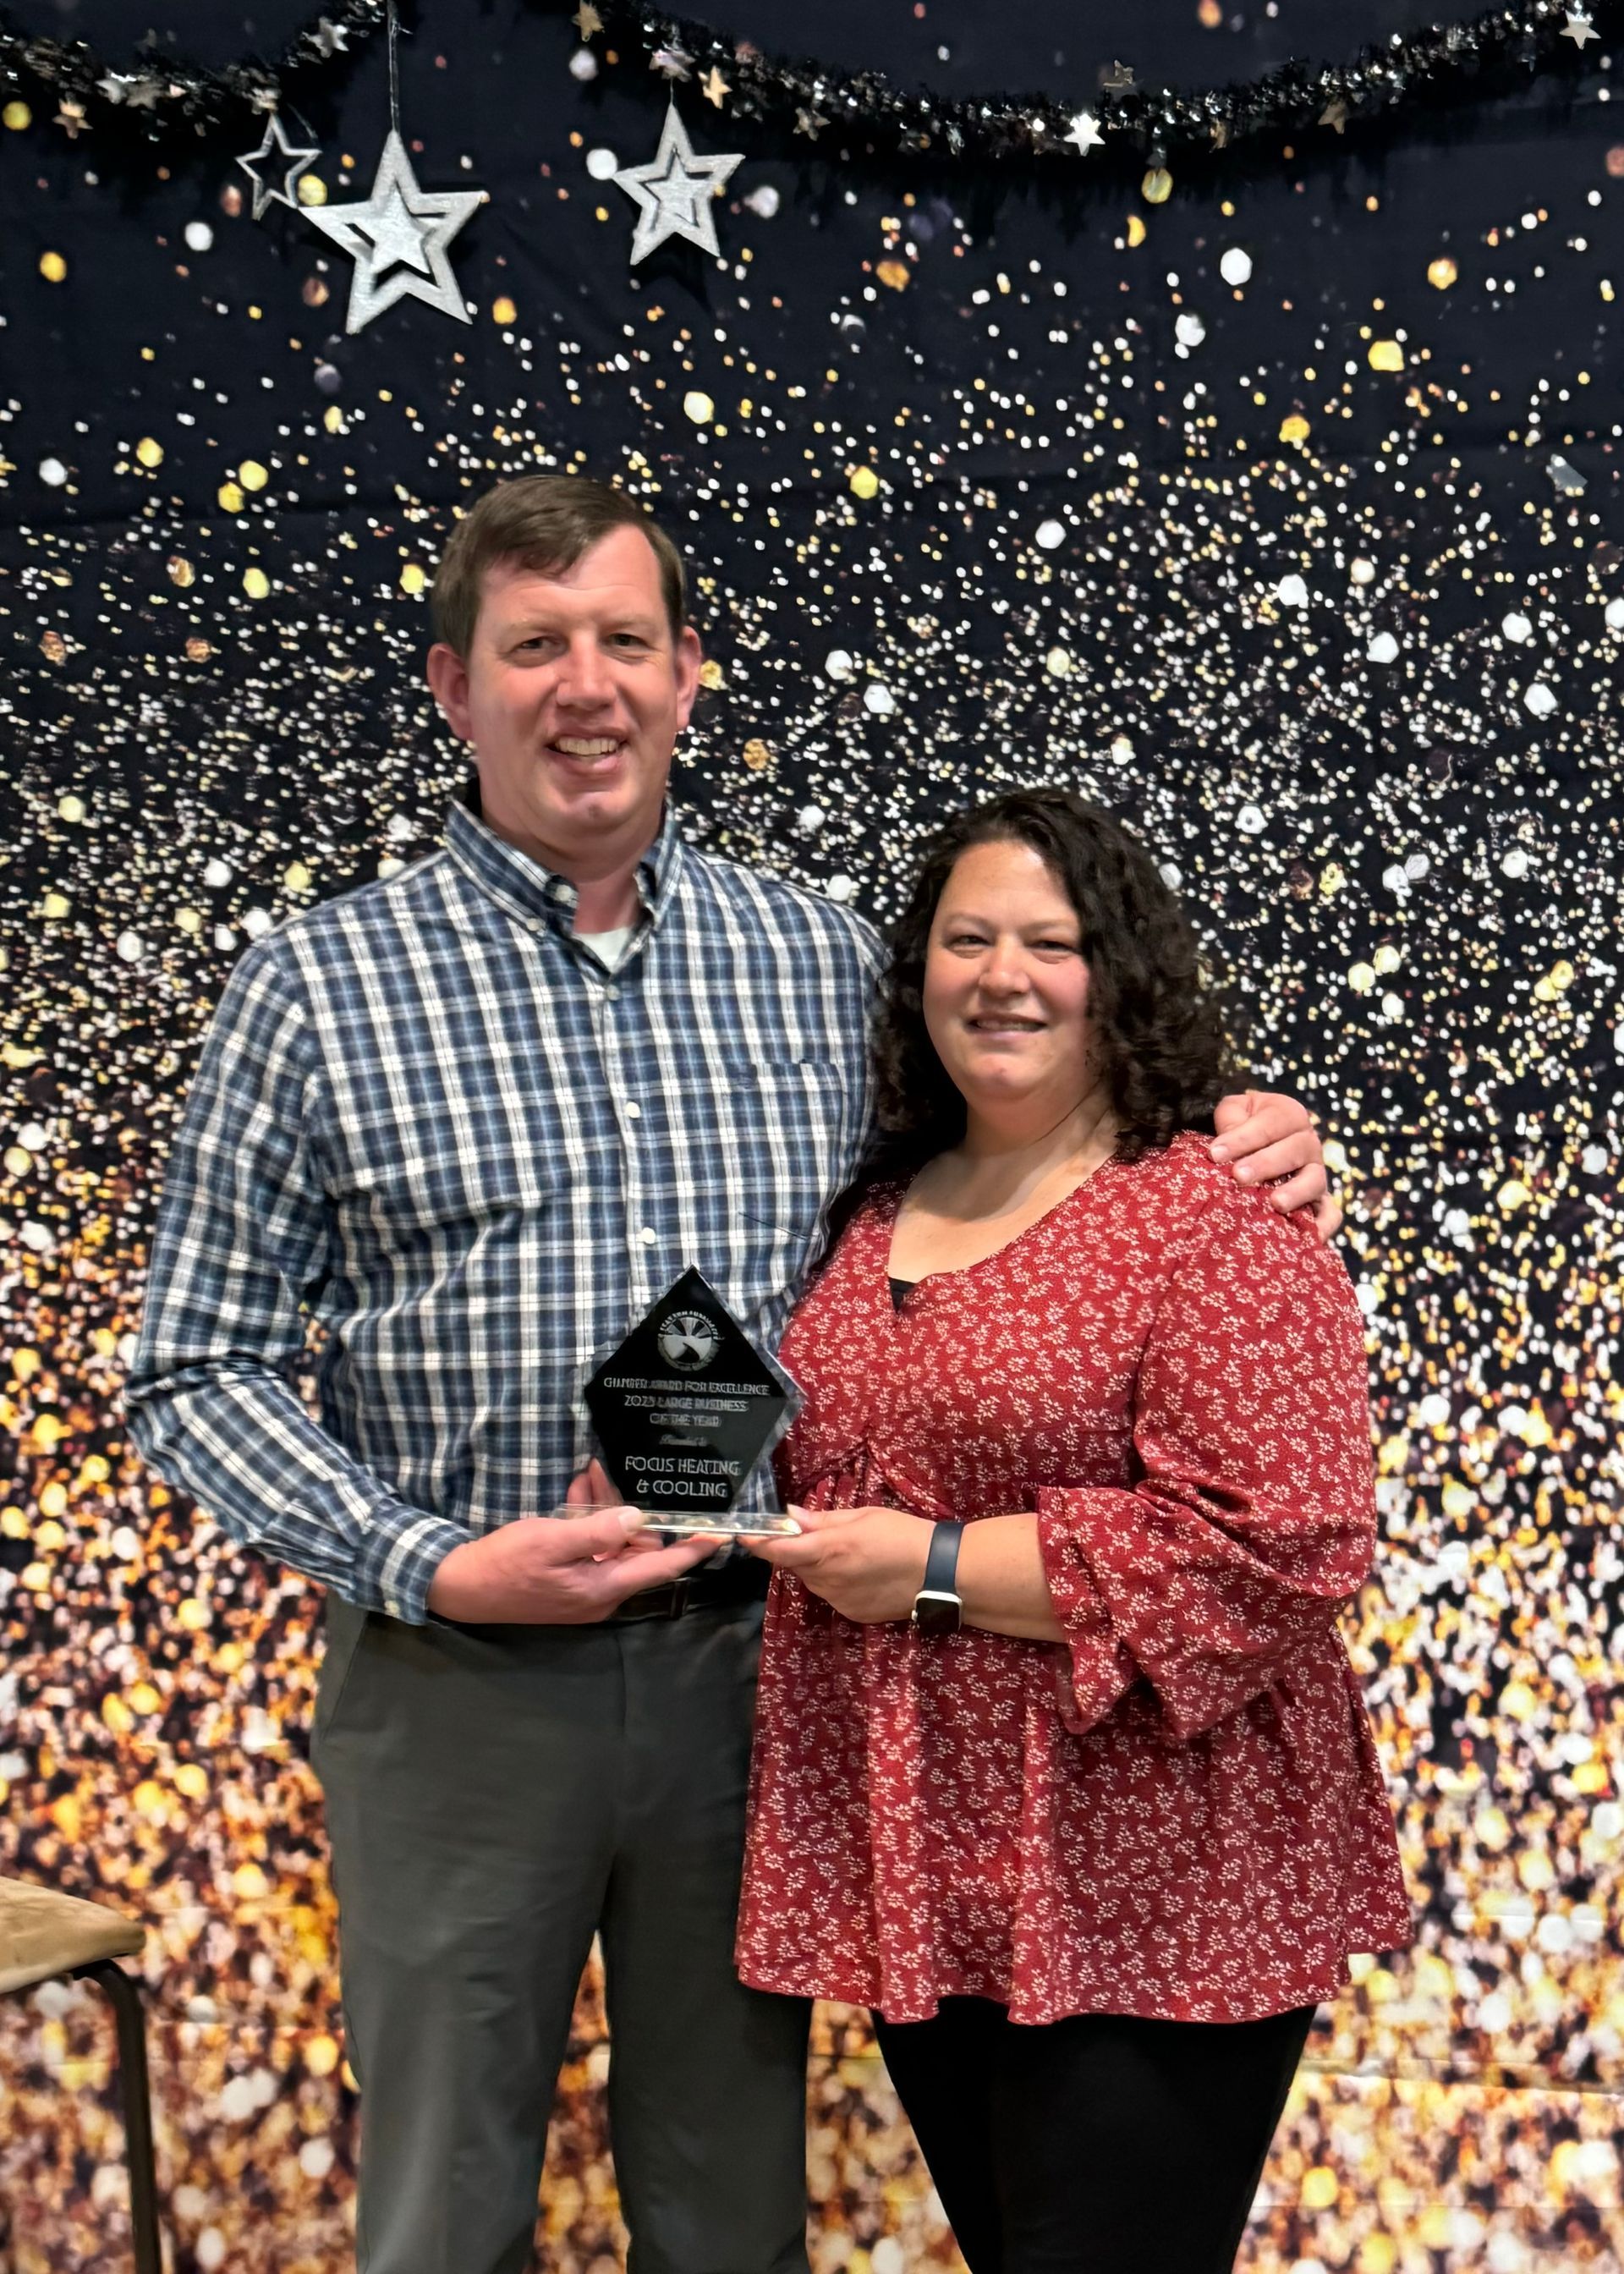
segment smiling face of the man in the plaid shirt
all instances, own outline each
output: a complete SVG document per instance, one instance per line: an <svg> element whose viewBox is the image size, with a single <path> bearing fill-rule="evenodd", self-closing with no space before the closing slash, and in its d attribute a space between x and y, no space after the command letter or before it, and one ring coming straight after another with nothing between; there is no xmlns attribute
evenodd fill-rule
<svg viewBox="0 0 1624 2274"><path fill-rule="evenodd" d="M469 653L434 646L428 680L473 746L489 825L591 873L653 841L698 664L698 634L671 637L653 546L623 528L573 568L489 568Z"/></svg>

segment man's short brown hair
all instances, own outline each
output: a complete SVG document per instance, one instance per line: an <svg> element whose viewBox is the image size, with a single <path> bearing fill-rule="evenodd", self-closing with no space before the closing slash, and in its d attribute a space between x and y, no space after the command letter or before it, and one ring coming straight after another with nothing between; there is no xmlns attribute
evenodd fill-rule
<svg viewBox="0 0 1624 2274"><path fill-rule="evenodd" d="M523 473L514 482L487 489L478 505L469 507L434 571L430 591L434 637L457 655L466 655L480 619L487 568L500 562L541 575L573 568L610 530L641 530L653 546L671 639L678 639L687 623L682 555L635 498L585 473Z"/></svg>

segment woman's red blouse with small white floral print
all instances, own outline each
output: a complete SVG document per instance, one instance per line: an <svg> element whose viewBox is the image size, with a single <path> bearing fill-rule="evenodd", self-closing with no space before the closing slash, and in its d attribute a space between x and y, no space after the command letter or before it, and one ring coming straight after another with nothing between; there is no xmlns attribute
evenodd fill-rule
<svg viewBox="0 0 1624 2274"><path fill-rule="evenodd" d="M1372 1562L1335 1255L1203 1139L1108 1162L894 1312L876 1189L785 1337L807 1508L1035 1510L1064 1644L855 1626L773 1576L739 1972L919 2022L1244 2022L1410 1940L1337 1610Z"/></svg>

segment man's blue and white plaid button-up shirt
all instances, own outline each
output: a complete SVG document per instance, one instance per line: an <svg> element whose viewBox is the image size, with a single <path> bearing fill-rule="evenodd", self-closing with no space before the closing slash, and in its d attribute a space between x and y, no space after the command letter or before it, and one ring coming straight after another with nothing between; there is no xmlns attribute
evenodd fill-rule
<svg viewBox="0 0 1624 2274"><path fill-rule="evenodd" d="M776 1346L862 1151L869 926L671 814L639 889L610 973L573 885L457 805L441 853L271 932L221 998L132 1437L368 1610L425 1619L450 1549L564 1499L594 1355L687 1264Z"/></svg>

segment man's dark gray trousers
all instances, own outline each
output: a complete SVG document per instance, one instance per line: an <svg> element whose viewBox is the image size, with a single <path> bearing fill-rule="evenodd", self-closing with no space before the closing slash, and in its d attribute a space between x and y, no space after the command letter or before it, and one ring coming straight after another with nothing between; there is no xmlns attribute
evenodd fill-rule
<svg viewBox="0 0 1624 2274"><path fill-rule="evenodd" d="M760 1603L403 1626L328 1603L312 1758L362 2274L523 2274L603 1935L632 2274L805 2274L803 1999L732 1972Z"/></svg>

